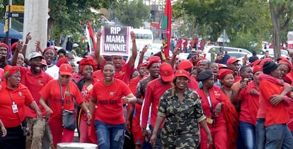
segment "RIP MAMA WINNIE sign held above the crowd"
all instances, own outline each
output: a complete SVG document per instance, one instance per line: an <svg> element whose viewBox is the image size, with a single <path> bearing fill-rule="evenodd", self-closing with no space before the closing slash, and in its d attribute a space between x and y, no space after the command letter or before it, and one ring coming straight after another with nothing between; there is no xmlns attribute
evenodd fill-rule
<svg viewBox="0 0 293 149"><path fill-rule="evenodd" d="M129 56L130 28L125 26L102 26L101 55Z"/></svg>

